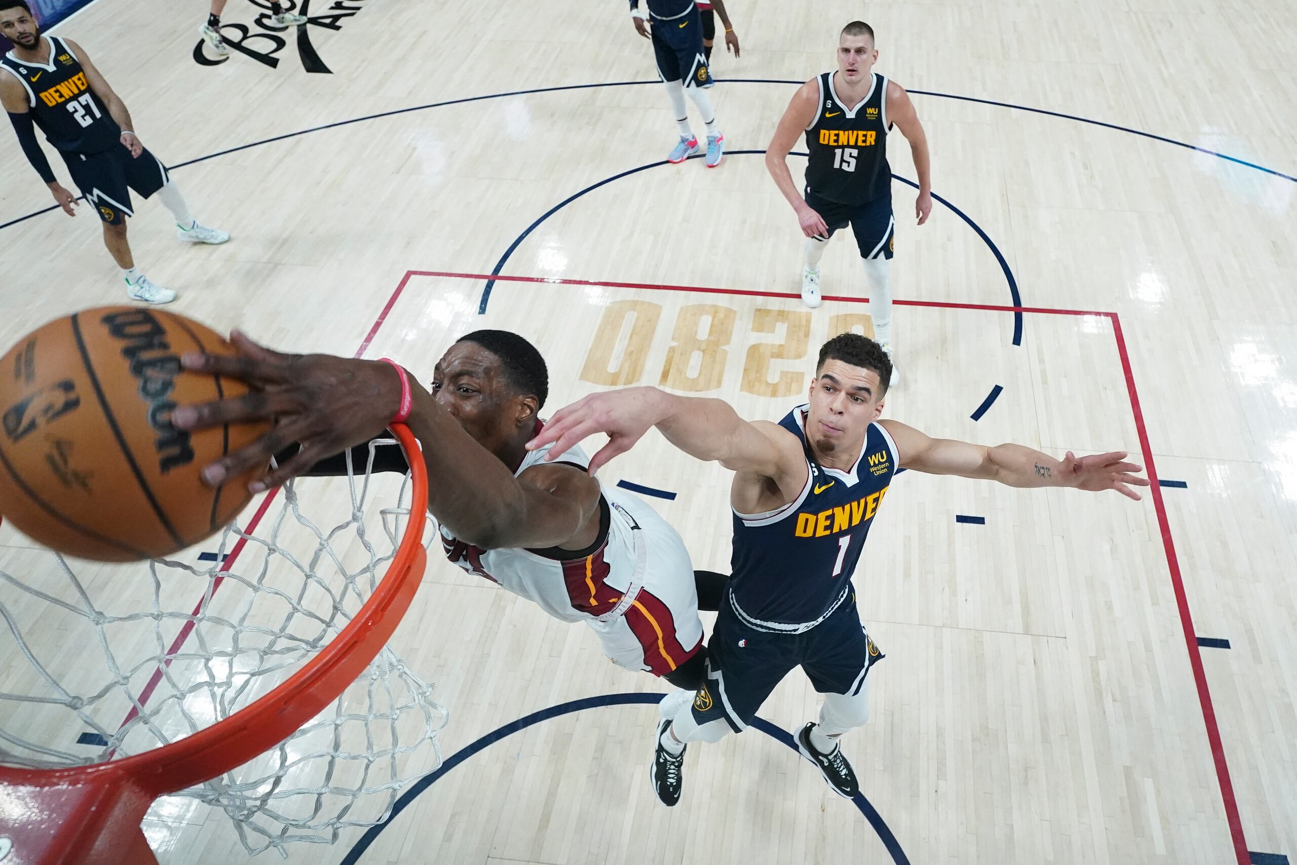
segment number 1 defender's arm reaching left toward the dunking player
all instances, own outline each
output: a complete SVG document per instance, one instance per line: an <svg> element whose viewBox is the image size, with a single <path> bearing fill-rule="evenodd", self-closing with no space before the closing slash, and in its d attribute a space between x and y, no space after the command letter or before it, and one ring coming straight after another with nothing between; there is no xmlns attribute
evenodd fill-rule
<svg viewBox="0 0 1297 865"><path fill-rule="evenodd" d="M650 427L690 456L735 472L777 481L805 473L796 437L778 424L743 420L721 399L677 397L658 388L591 393L560 409L527 446L534 450L558 442L550 449L553 458L588 436L606 433L608 444L590 460L590 471L595 472L630 450Z"/></svg>

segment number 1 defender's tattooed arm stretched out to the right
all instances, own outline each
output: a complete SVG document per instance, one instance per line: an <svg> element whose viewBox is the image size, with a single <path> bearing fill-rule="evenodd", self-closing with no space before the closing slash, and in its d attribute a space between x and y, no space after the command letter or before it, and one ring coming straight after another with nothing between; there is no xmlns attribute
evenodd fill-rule
<svg viewBox="0 0 1297 865"><path fill-rule="evenodd" d="M1023 445L986 447L952 438L931 438L903 423L881 420L896 442L901 468L929 475L958 475L999 481L1008 486L1074 486L1093 493L1113 489L1140 499L1132 486L1148 486L1140 477L1143 466L1127 463L1126 451L1074 456L1071 451L1058 460Z"/></svg>

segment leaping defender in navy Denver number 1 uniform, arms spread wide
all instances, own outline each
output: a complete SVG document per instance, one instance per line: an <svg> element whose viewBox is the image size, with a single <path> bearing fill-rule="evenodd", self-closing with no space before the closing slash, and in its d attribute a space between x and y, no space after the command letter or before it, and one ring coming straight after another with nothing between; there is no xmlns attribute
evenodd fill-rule
<svg viewBox="0 0 1297 865"><path fill-rule="evenodd" d="M824 704L818 721L798 733L798 750L835 792L856 795L856 774L838 738L868 720L868 673L882 654L860 622L851 580L896 471L1009 486L1114 489L1135 499L1131 488L1148 485L1123 453L1057 460L1022 445L930 438L879 420L890 373L882 346L843 333L820 349L809 401L777 424L743 420L720 399L629 388L559 410L528 442L558 454L608 433L610 442L590 460L597 471L658 427L686 454L734 471L733 573L708 642L707 683L659 705L651 777L664 804L680 800L685 744L746 729L799 665Z"/></svg>

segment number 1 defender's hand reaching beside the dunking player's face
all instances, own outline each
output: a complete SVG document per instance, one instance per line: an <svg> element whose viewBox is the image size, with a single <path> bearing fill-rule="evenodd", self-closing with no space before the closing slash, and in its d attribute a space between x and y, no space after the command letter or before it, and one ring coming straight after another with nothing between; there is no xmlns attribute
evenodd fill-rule
<svg viewBox="0 0 1297 865"><path fill-rule="evenodd" d="M571 406L559 409L550 418L540 434L527 442L528 450L558 442L545 455L546 460L558 459L582 438L595 433L607 433L608 444L590 459L590 473L617 454L624 454L639 441L648 428L660 420L661 394L656 388L625 388L591 393L577 399Z"/></svg>

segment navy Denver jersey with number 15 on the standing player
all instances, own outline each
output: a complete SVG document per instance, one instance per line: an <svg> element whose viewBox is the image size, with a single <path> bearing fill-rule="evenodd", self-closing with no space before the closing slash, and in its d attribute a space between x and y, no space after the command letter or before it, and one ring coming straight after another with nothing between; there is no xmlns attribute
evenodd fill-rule
<svg viewBox="0 0 1297 865"><path fill-rule="evenodd" d="M869 95L846 105L822 73L820 109L807 127L807 188L821 198L860 205L891 195L887 165L887 78L870 73Z"/></svg>

